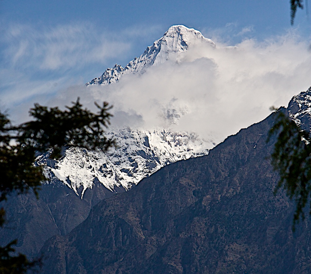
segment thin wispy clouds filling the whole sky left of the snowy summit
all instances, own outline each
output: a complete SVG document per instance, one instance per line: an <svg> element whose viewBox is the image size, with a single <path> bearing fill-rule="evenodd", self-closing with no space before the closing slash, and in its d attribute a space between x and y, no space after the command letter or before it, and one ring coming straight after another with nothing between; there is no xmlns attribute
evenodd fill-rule
<svg viewBox="0 0 311 274"><path fill-rule="evenodd" d="M115 32L88 22L53 27L8 23L0 36L0 104L44 103L59 90L100 76L107 66L134 58L137 39L156 26ZM143 50L143 49L142 49ZM27 103L28 102L28 103Z"/></svg>

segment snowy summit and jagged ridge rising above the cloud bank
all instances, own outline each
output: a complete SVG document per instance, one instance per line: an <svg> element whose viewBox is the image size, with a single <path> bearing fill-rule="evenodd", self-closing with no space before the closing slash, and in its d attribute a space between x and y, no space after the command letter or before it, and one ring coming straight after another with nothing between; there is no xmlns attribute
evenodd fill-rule
<svg viewBox="0 0 311 274"><path fill-rule="evenodd" d="M216 47L211 39L205 38L198 30L189 29L183 25L171 26L163 37L147 47L140 57L135 57L125 68L116 64L86 85L111 84L119 81L124 74L142 74L149 66L159 65L168 60L178 62L180 54L185 52L191 44L198 42L206 42L211 47Z"/></svg>

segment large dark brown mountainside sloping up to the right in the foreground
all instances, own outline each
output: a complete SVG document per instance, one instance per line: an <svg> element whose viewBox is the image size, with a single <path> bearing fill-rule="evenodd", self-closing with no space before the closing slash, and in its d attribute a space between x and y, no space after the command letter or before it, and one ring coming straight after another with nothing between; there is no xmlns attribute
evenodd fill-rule
<svg viewBox="0 0 311 274"><path fill-rule="evenodd" d="M275 114L98 203L42 252L43 273L309 273L309 215L273 195Z"/></svg>

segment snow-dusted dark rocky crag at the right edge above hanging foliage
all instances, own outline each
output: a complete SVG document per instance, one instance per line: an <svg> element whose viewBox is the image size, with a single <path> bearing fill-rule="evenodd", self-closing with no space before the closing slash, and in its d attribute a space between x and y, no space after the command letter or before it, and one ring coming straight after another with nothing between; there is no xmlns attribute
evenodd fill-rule
<svg viewBox="0 0 311 274"><path fill-rule="evenodd" d="M311 87L295 95L288 104L290 118L301 129L311 131Z"/></svg>

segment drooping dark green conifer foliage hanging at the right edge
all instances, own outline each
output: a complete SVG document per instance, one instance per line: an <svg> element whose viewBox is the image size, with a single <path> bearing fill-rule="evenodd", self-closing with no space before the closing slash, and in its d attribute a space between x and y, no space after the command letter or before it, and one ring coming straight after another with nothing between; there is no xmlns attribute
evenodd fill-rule
<svg viewBox="0 0 311 274"><path fill-rule="evenodd" d="M272 108L272 110L276 110ZM274 151L271 154L272 165L280 174L276 192L283 187L287 196L295 200L296 211L293 230L300 217L304 219L304 208L311 197L311 138L290 119L284 109L277 110L278 116L269 131L267 142L277 135ZM310 201L310 199L309 199ZM311 204L310 204L311 214Z"/></svg>

